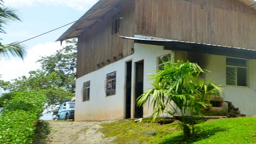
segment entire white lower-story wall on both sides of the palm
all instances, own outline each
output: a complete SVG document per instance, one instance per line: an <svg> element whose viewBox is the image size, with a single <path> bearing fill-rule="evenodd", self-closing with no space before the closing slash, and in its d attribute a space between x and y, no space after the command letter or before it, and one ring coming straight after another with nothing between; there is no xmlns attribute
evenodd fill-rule
<svg viewBox="0 0 256 144"><path fill-rule="evenodd" d="M99 70L86 74L76 81L76 111L75 120L114 120L124 119L125 115L125 77L126 62L132 61L132 89L131 89L131 118L134 118L134 81L135 63L144 60L144 92L151 88L148 75L156 73L157 59L173 51L163 50L163 46L134 44L134 54L123 58ZM181 54L182 55L182 54ZM185 56L185 55L184 55ZM208 78L215 80L215 84L226 83L226 57L206 54L206 69L210 70ZM104 91L106 74L116 71L116 94L106 97ZM224 100L232 101L235 107L239 107L241 113L256 115L256 60L248 60L249 86L224 86ZM83 83L90 80L90 100L82 101ZM144 106L143 117L152 114L152 107Z"/></svg>

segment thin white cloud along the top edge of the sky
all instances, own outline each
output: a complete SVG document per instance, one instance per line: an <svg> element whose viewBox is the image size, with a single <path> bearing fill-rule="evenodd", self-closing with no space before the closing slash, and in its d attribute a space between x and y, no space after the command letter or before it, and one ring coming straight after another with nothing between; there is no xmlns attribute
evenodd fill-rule
<svg viewBox="0 0 256 144"><path fill-rule="evenodd" d="M85 11L91 8L97 1L98 0L8 0L5 1L5 4L14 6L15 8L18 8L19 6L32 6L35 4L61 5L75 10Z"/></svg>

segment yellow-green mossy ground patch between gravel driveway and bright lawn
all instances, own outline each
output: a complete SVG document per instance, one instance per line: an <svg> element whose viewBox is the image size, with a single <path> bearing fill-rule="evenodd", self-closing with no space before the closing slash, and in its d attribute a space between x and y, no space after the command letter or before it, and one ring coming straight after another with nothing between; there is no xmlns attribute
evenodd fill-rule
<svg viewBox="0 0 256 144"><path fill-rule="evenodd" d="M150 122L147 119L136 123L133 119L118 120L101 124L100 129L106 137L116 137L114 143L157 143L165 135L180 132L177 122L160 125L158 122Z"/></svg>

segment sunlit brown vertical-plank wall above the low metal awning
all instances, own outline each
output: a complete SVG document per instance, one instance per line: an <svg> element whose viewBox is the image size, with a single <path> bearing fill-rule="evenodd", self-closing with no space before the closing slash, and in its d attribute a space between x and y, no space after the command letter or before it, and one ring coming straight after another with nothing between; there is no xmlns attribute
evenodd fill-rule
<svg viewBox="0 0 256 144"><path fill-rule="evenodd" d="M137 0L137 35L256 50L256 11L236 0Z"/></svg>

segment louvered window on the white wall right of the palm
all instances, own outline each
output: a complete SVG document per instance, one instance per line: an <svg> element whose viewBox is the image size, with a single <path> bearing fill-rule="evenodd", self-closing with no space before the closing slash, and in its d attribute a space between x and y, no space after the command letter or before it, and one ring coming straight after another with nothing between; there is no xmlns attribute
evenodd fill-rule
<svg viewBox="0 0 256 144"><path fill-rule="evenodd" d="M247 60L226 58L226 84L247 86Z"/></svg>

